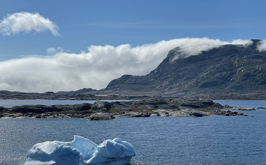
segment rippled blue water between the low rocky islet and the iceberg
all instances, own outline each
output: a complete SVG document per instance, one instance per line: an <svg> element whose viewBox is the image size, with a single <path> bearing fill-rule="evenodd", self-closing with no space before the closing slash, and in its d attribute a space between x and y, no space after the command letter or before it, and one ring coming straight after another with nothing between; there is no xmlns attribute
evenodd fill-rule
<svg viewBox="0 0 266 165"><path fill-rule="evenodd" d="M254 117L0 119L0 164L23 164L32 145L74 135L97 144L128 141L138 154L132 164L266 164L266 110L250 113Z"/></svg>

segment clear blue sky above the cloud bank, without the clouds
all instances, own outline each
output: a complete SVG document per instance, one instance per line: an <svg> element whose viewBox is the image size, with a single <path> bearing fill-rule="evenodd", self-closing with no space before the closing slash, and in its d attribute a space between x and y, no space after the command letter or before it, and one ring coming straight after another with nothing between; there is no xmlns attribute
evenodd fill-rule
<svg viewBox="0 0 266 165"><path fill-rule="evenodd" d="M50 32L0 34L0 60L46 55L49 47L79 53L90 45L138 46L184 37L222 41L265 39L266 1L0 1L0 18L39 13L59 27Z"/></svg>

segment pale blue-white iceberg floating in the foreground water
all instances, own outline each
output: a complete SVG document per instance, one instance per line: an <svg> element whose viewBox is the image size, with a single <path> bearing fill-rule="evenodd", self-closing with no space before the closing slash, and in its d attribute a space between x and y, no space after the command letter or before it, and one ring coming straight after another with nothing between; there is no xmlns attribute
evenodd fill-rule
<svg viewBox="0 0 266 165"><path fill-rule="evenodd" d="M119 138L96 145L74 135L71 142L37 143L27 153L24 165L124 165L136 156L133 146Z"/></svg>

